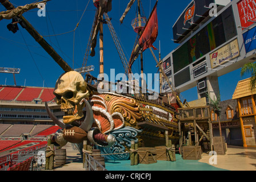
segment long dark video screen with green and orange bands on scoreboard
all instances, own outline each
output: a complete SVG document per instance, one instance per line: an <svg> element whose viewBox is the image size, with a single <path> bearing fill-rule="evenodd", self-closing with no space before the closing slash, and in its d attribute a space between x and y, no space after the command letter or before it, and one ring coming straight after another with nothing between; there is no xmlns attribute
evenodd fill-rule
<svg viewBox="0 0 256 182"><path fill-rule="evenodd" d="M173 52L173 69L177 73L213 49L237 35L232 7L223 11L193 38Z"/></svg>

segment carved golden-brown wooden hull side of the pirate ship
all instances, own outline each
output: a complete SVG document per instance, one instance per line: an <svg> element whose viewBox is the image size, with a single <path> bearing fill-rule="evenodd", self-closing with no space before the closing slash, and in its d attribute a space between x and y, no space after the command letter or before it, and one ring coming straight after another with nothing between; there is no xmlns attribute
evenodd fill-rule
<svg viewBox="0 0 256 182"><path fill-rule="evenodd" d="M97 99L101 102L95 101ZM121 113L125 121L123 127L132 127L141 131L137 138L139 145L143 147L165 145L166 130L169 131L169 139L174 143L178 141L178 124L174 109L113 92L94 92L91 100L95 101L93 106L106 107L110 115Z"/></svg>

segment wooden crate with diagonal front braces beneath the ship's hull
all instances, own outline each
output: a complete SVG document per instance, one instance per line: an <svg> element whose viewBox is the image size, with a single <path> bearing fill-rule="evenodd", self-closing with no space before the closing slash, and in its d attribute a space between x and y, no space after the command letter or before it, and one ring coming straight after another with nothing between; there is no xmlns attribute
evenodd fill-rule
<svg viewBox="0 0 256 182"><path fill-rule="evenodd" d="M157 163L157 152L153 147L138 148L139 164Z"/></svg>

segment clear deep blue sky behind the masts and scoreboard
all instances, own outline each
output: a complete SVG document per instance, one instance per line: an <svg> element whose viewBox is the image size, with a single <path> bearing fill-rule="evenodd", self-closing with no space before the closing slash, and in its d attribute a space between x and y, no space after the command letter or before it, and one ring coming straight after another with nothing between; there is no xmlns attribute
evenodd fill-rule
<svg viewBox="0 0 256 182"><path fill-rule="evenodd" d="M34 1L11 0L11 2L15 6L21 6ZM85 14L82 16L88 2L89 4ZM173 43L171 40L173 39L172 27L179 15L190 2L190 0L159 0L159 35L154 46L159 48L159 40L161 41L162 58L173 51L174 48L178 47L178 44ZM109 17L112 18L111 22L113 23L115 31L121 40L126 58L129 60L136 38L136 33L131 27L131 20L135 18L136 8L133 6L123 21L123 24L120 24L119 18L121 18L123 11L125 11L127 3L129 3L129 0L113 0L113 9L108 14ZM142 0L145 16L149 16L154 4L155 0ZM0 5L0 11L4 10L5 8ZM61 55L61 57L63 57L71 67L73 67L74 64L74 68L80 68L82 67L83 57L85 56L87 42L93 25L94 14L95 7L93 5L93 0L74 0L68 1L68 3L67 1L51 0L46 5L45 17L39 17L37 15L37 9L31 10L23 14L23 16L33 24L35 29L41 35L46 36L46 41L54 47L59 55ZM74 30L79 19L81 19L81 23L75 32L59 36L47 36L62 34L64 32ZM44 85L45 87L53 88L56 80L63 73L62 69L21 26L19 26L19 31L16 34L7 30L6 26L9 23L11 23L11 20L2 20L0 22L0 67L21 68L21 73L19 75L15 75L17 85ZM110 75L110 69L115 69L116 73L125 73L106 24L104 26L103 35L105 73ZM98 45L99 43L97 42L95 57L89 57L87 61L87 65L95 66L95 71L91 72L91 74L96 77L99 73ZM154 51L154 53L158 57L158 51ZM156 73L157 68L155 68L155 61L149 50L143 53L143 59L145 60L145 72ZM139 70L139 62L135 61L133 72L139 72ZM241 77L239 69L219 77L221 100L230 99L234 93L237 82L247 77L249 77L249 75ZM0 85L4 85L5 82L6 85L14 85L13 75L0 73ZM196 100L197 89L193 88L187 90L182 93L182 96L186 98L187 101Z"/></svg>

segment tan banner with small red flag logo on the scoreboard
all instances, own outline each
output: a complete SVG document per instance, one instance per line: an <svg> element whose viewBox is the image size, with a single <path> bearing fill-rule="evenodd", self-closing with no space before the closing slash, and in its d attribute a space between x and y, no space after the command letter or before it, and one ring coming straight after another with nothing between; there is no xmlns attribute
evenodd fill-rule
<svg viewBox="0 0 256 182"><path fill-rule="evenodd" d="M235 59L240 54L238 40L235 39L226 46L219 48L210 54L211 68L216 68L227 62L227 60Z"/></svg>

